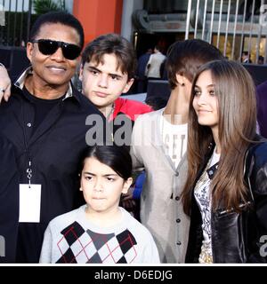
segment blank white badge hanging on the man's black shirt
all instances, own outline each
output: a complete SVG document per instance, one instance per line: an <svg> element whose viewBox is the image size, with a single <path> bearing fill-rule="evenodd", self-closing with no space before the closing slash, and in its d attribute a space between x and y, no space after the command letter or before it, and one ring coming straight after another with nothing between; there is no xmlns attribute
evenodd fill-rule
<svg viewBox="0 0 267 284"><path fill-rule="evenodd" d="M20 223L39 223L41 185L20 184Z"/></svg>

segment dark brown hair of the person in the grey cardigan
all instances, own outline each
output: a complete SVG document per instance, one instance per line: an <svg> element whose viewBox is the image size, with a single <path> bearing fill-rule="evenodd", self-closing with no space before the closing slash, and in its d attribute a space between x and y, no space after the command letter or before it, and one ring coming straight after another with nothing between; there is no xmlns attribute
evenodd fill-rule
<svg viewBox="0 0 267 284"><path fill-rule="evenodd" d="M167 51L166 59L171 89L174 90L177 86L176 74L186 76L191 82L198 67L215 59L224 59L221 51L200 39L189 39L173 43Z"/></svg>

